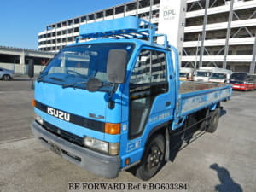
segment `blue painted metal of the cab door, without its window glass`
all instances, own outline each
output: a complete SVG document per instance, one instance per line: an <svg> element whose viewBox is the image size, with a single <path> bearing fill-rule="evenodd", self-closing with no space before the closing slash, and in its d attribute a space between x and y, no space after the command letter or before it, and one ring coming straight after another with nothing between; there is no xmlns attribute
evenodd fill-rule
<svg viewBox="0 0 256 192"><path fill-rule="evenodd" d="M134 40L136 41L136 40ZM128 127L129 127L129 105L127 102L129 101L129 79L131 75L131 71L136 65L137 56L140 53L141 49L155 49L159 51L166 52L166 60L168 61L167 68L167 77L172 75L174 77L173 67L172 67L172 56L169 51L163 49L161 46L150 46L148 44L137 44L137 47L134 49L136 55L132 55L131 61L127 67L127 74L125 82L124 90L123 90L123 108L122 108L122 122L127 125L127 131L122 132L121 134L121 148L120 148L120 158L121 158L121 167L125 167L125 159L131 158L131 163L136 162L137 160L141 160L144 152L145 143L148 141L149 132L154 129L157 125L161 125L166 123L166 121L173 119L173 108L175 107L176 102L176 89L175 89L175 79L168 79L169 81L169 90L165 94L161 94L154 99L154 103L151 108L150 115L148 117L148 122L143 131L143 134L140 137L135 139L128 138ZM170 106L166 107L166 102L171 102ZM168 114L168 115L167 115ZM150 120L155 119L155 120ZM135 148L134 145L137 141L140 141L140 148ZM127 151L127 148L129 150ZM132 150L130 150L132 149Z"/></svg>

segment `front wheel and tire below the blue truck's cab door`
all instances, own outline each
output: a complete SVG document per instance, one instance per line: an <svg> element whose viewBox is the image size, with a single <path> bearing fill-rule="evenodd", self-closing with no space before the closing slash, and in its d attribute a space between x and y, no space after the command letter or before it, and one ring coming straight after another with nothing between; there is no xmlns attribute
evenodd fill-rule
<svg viewBox="0 0 256 192"><path fill-rule="evenodd" d="M147 148L144 151L143 160L135 172L136 177L143 181L148 181L148 179L159 172L160 168L164 165L166 150L165 137L161 134L156 135L150 139L146 146Z"/></svg>

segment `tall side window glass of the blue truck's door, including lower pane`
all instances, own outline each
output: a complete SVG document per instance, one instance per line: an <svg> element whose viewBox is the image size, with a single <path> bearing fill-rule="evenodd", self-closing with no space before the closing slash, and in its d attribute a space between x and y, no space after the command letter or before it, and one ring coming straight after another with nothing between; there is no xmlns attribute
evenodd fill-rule
<svg viewBox="0 0 256 192"><path fill-rule="evenodd" d="M147 123L154 98L168 91L166 54L143 49L130 79L129 137L139 137Z"/></svg>

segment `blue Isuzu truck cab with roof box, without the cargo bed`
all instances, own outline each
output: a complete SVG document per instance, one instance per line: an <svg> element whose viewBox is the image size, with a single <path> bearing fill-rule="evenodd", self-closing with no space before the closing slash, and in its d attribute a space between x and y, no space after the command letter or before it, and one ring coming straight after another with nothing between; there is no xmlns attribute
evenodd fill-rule
<svg viewBox="0 0 256 192"><path fill-rule="evenodd" d="M118 26L124 22L127 34L137 32L142 20L114 20ZM105 36L98 30L108 31L102 27L111 23L82 26L79 38ZM116 35L110 30L109 36ZM61 49L35 82L32 131L46 134L40 137L43 143L61 148L66 159L103 177L117 177L119 169L142 159L146 138L161 125L157 119L172 118L174 77L170 49L163 45L125 37L78 39Z"/></svg>

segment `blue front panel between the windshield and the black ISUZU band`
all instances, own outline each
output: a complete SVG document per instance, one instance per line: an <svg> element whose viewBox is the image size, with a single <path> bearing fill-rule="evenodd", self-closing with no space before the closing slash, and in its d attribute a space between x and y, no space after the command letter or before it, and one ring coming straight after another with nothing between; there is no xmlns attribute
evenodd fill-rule
<svg viewBox="0 0 256 192"><path fill-rule="evenodd" d="M120 105L116 103L116 108L112 110L112 115L106 116L107 102L105 97L106 92L89 92L88 90L66 88L61 85L36 83L35 99L45 105L67 113L92 119L89 113L94 113L96 116L102 115L104 119L94 119L102 122L119 123L120 122ZM118 94L118 92L117 92Z"/></svg>

